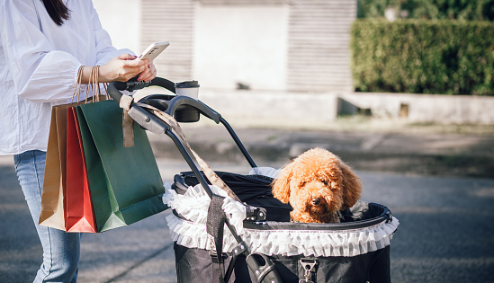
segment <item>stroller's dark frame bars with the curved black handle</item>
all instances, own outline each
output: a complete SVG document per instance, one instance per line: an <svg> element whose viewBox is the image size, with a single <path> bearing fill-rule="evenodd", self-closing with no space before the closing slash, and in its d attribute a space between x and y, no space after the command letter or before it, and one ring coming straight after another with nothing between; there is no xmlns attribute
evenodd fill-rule
<svg viewBox="0 0 494 283"><path fill-rule="evenodd" d="M151 85L161 86L163 88L166 88L171 93L175 93L175 84L161 77L156 77L150 82L138 82L133 80L130 80L126 83L113 82L108 86L108 93L110 94L110 96L114 101L120 103L121 98L123 96L121 91L132 92L134 90L139 90ZM202 176L202 173L200 172L199 168L197 167L196 164L194 164L193 158L187 152L184 144L182 143L180 138L175 135L171 125L169 125L168 123L166 123L166 121L162 119L158 119L156 115L148 111L149 109L148 105L150 105L153 108L157 106L157 110L164 111L166 112L166 114L172 117L174 117L178 111L184 111L184 110L190 111L192 108L196 111L199 111L199 113L202 114L203 116L212 119L214 122L216 122L216 124L221 123L228 130L229 135L233 138L238 148L240 149L241 153L247 159L248 164L252 168L257 167L252 157L248 154L246 147L242 144L242 142L238 138L233 128L231 128L229 123L221 117L220 113L218 113L217 111L213 111L210 107L208 107L206 104L202 102L196 101L187 96L154 94L154 95L149 95L143 100L140 100L139 103L130 102L129 104L130 104L128 110L129 116L134 121L139 123L139 125L142 128L145 128L148 131L157 134L158 136L163 136L165 134L174 141L175 146L178 148L178 150L184 157L185 162L192 169L197 180L202 184L202 188L206 191L211 201L214 198L214 194L211 191L208 182L205 180L204 176ZM265 221L266 212L264 208L254 208L247 205L246 207L247 207L248 220L253 222ZM225 218L225 225L229 228L229 231L231 232L231 234L233 235L233 237L235 238L238 244L232 251L233 257L232 260L229 262L229 268L227 272L225 273L224 276L220 274L220 281L223 280L224 282L229 281L229 278L235 267L235 263L237 261L238 255L243 254L246 256L248 268L252 270L254 274L256 274L257 282L265 282L265 283L282 282L277 271L275 270L274 262L263 254L250 252L247 247L247 244L238 235L235 227L231 226L231 224L229 223L228 218ZM216 252L217 252L216 257L219 259L219 261L221 261L220 259L221 251L216 251ZM252 254L257 254L261 256L265 261L265 265L260 265L259 262L256 260L256 258L251 256Z"/></svg>

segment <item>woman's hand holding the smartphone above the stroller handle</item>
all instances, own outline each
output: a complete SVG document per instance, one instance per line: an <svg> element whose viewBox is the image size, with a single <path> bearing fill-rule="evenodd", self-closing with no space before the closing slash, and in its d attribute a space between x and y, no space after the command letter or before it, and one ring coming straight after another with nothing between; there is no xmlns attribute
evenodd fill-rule
<svg viewBox="0 0 494 283"><path fill-rule="evenodd" d="M112 83L113 81L127 82L139 75L139 81L150 81L156 77L156 67L148 59L136 60L135 56L124 54L112 58L108 63L100 66L99 82ZM92 66L84 66L83 84L89 83Z"/></svg>

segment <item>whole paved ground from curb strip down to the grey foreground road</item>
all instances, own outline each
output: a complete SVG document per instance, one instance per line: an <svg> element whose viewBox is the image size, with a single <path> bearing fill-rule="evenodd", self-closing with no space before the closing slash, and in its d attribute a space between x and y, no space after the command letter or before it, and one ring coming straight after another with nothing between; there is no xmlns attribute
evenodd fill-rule
<svg viewBox="0 0 494 283"><path fill-rule="evenodd" d="M184 131L214 170L247 173L224 128ZM494 135L236 131L259 166L278 168L315 146L351 164L363 179L363 199L388 206L400 219L391 241L393 282L494 282ZM164 181L188 170L169 138L149 137ZM175 282L168 213L85 234L78 281ZM12 156L0 156L0 282L31 282L40 259Z"/></svg>

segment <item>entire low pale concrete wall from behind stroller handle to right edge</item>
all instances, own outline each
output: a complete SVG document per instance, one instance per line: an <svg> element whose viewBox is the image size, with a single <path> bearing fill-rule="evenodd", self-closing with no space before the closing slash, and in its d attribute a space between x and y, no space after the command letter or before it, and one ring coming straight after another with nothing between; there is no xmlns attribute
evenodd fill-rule
<svg viewBox="0 0 494 283"><path fill-rule="evenodd" d="M328 128L342 100L354 113L410 123L494 124L494 97L407 93L284 93L201 90L200 100L241 126ZM350 107L350 109L352 109Z"/></svg>

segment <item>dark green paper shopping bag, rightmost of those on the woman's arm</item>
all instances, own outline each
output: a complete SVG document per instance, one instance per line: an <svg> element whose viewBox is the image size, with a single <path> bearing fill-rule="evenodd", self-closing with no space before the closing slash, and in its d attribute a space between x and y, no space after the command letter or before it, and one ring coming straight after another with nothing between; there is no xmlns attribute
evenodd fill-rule
<svg viewBox="0 0 494 283"><path fill-rule="evenodd" d="M133 147L123 146L117 102L78 106L85 163L98 232L128 226L168 208L146 132L134 124Z"/></svg>

